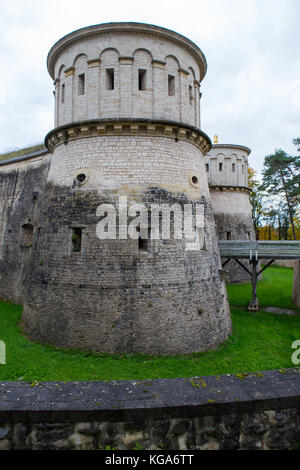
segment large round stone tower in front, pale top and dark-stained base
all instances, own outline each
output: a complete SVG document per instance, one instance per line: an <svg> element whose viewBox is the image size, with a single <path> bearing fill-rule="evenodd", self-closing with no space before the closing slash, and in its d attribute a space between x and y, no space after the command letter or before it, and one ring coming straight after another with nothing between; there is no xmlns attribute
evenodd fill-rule
<svg viewBox="0 0 300 470"><path fill-rule="evenodd" d="M52 161L24 330L56 346L109 353L216 347L231 320L203 158L211 142L200 130L203 53L161 27L109 23L59 40L48 70L55 129L45 139ZM145 239L138 231L126 238L125 202L149 213L153 204L200 205L201 243L194 249L184 237ZM103 239L97 227L108 204L117 235ZM171 234L178 217L170 216Z"/></svg>

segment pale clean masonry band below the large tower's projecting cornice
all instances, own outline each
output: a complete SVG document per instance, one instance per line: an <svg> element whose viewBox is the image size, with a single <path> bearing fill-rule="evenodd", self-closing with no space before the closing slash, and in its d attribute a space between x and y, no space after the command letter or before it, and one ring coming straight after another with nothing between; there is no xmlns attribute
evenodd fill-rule
<svg viewBox="0 0 300 470"><path fill-rule="evenodd" d="M198 200L209 198L199 148L162 135L102 135L70 141L53 152L48 181L71 188L78 172L86 173L81 191L127 190L162 186ZM191 176L198 179L191 184Z"/></svg>

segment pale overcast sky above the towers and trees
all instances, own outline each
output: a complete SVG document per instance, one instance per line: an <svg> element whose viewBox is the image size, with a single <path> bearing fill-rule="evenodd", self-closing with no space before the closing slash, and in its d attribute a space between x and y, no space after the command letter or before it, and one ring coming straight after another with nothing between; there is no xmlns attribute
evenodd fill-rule
<svg viewBox="0 0 300 470"><path fill-rule="evenodd" d="M92 24L137 21L187 36L206 56L202 130L252 149L260 171L300 137L299 0L0 0L0 152L53 128L51 46Z"/></svg>

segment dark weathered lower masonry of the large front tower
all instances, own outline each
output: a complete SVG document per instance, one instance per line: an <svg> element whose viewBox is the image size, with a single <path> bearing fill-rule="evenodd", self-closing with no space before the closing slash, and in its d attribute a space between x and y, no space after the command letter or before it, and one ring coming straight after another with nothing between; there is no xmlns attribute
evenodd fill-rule
<svg viewBox="0 0 300 470"><path fill-rule="evenodd" d="M207 250L189 253L184 241L160 240L157 250L139 253L137 240L96 236L97 207L117 203L110 193L99 197L48 185L46 194L43 229L24 285L22 324L32 339L147 354L188 353L226 339L230 315L205 199ZM159 187L140 193L139 201L192 202ZM75 225L83 227L79 253L71 250Z"/></svg>

